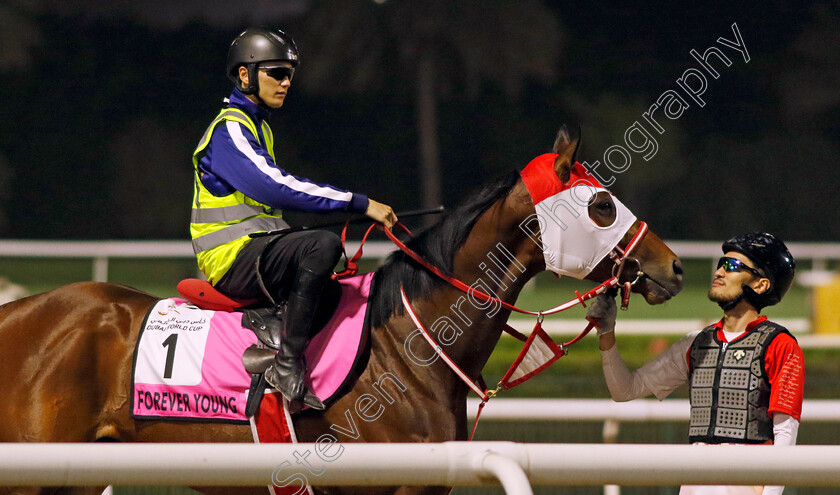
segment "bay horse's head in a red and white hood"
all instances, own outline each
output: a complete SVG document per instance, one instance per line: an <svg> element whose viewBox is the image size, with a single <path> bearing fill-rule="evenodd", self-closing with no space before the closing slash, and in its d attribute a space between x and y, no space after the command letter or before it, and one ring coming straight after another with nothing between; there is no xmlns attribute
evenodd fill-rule
<svg viewBox="0 0 840 495"><path fill-rule="evenodd" d="M642 222L575 161L579 141L579 133L571 138L563 126L554 153L522 171L536 209L529 235L539 240L548 270L604 282L618 272L613 258L633 242ZM538 236L532 235L537 223ZM636 241L619 281L631 282L649 304L663 303L682 289L680 260L650 231Z"/></svg>

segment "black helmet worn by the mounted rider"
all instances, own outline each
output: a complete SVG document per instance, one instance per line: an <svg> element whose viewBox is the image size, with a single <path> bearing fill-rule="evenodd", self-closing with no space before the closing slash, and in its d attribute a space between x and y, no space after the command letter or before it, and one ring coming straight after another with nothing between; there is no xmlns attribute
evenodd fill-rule
<svg viewBox="0 0 840 495"><path fill-rule="evenodd" d="M284 60L298 65L298 51L291 36L279 29L250 27L242 31L228 49L227 75L240 91L254 94L258 91L257 66L260 62ZM239 79L239 66L248 69L248 86Z"/></svg>

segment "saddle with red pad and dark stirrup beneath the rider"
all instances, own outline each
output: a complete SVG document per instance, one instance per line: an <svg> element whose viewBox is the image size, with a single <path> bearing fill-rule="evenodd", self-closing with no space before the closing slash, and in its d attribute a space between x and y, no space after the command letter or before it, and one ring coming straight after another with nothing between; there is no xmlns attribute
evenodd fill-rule
<svg viewBox="0 0 840 495"><path fill-rule="evenodd" d="M182 280L178 283L177 290L184 299L202 309L242 313L242 327L254 332L259 339L258 344L248 347L242 355L242 364L251 374L245 413L248 417L253 416L259 408L265 389L269 387L265 380L265 370L271 366L280 345L280 342L272 339L264 321L266 318L274 317L272 314L276 314L282 320L285 315L286 301L279 301L278 306L281 309L276 311L267 301L232 299L216 290L206 280L200 279ZM327 284L312 325L312 334L309 335L310 342L334 315L341 300L341 292L339 282L331 280ZM335 400L335 398L332 399Z"/></svg>

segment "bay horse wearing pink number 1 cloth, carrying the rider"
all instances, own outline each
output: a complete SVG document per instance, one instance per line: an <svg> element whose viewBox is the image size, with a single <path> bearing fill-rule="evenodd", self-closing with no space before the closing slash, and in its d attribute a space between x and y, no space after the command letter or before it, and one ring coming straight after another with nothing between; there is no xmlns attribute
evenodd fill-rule
<svg viewBox="0 0 840 495"><path fill-rule="evenodd" d="M565 126L558 133L553 166L561 181L569 178L578 141L579 137L569 137ZM587 208L599 226L615 220L615 205L607 192L599 192ZM525 283L546 269L542 247L520 228L534 213L531 195L514 171L485 186L408 245L466 284L482 279L491 295L512 304ZM626 245L639 226L635 221L620 234L619 245ZM499 246L512 255L510 259L497 258L509 272L488 278L488 265L482 260ZM633 291L649 304L662 303L680 291L679 259L656 235L647 233L633 256L640 270ZM586 278L602 282L610 277L612 266L605 258ZM427 324L447 314L465 323L463 334L441 329L437 338L472 379L489 359L510 311L496 308L492 313L481 304L462 304L463 292L400 251L377 270L375 278L367 367L355 387L328 410L294 416L299 440L314 442L325 433L340 442L466 440L469 388L440 359L418 364L417 356L425 359L434 352L422 347L422 339L415 339L411 349L407 346L417 327L402 306L400 287L417 317ZM122 285L80 282L0 307L0 441L252 442L247 425L135 420L129 415L134 347L144 316L157 300ZM386 374L387 382L382 380ZM392 400L380 401L385 410L375 421L360 421L357 415L364 413L365 406L360 409L359 404L371 396ZM337 428L331 429L333 425ZM198 489L205 493L265 493L265 487ZM98 489L5 490L97 493ZM315 491L444 494L449 488L315 487Z"/></svg>

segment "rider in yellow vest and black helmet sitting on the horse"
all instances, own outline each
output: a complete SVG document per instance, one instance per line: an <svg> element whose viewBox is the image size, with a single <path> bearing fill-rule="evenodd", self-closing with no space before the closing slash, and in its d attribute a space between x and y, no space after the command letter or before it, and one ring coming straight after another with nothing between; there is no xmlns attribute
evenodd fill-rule
<svg viewBox="0 0 840 495"><path fill-rule="evenodd" d="M387 205L278 165L268 117L283 106L298 64L295 42L282 31L248 28L233 40L227 76L235 88L193 153L190 223L198 266L216 289L234 299L264 299L262 283L270 299L288 301L283 318L280 306L250 311L250 317L263 329L262 340L278 349L266 381L293 410L302 403L324 408L306 390L302 355L318 330L313 319L341 241L319 230L253 239L249 234L287 228L282 209L364 213L388 228L397 222Z"/></svg>

